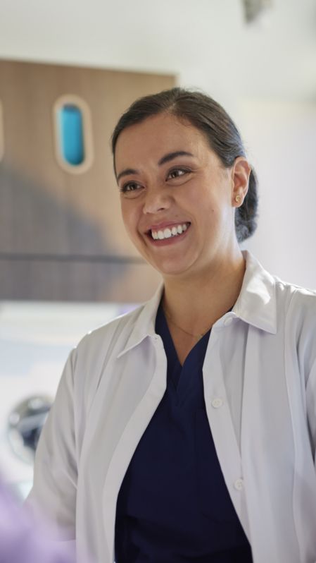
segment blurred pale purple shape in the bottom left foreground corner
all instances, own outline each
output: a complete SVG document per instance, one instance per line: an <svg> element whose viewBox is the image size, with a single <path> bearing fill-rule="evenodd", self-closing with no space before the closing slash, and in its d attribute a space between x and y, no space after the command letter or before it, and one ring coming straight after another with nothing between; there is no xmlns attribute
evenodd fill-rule
<svg viewBox="0 0 316 563"><path fill-rule="evenodd" d="M49 541L42 523L21 507L0 480L0 563L75 563Z"/></svg>

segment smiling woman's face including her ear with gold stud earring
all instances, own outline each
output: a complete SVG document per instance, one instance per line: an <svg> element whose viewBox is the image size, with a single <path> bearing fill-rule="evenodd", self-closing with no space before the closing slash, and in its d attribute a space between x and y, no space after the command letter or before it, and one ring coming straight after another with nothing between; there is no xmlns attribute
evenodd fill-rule
<svg viewBox="0 0 316 563"><path fill-rule="evenodd" d="M239 160L225 169L204 135L170 114L120 133L122 218L134 246L163 277L208 270L236 245L234 198L246 190Z"/></svg>

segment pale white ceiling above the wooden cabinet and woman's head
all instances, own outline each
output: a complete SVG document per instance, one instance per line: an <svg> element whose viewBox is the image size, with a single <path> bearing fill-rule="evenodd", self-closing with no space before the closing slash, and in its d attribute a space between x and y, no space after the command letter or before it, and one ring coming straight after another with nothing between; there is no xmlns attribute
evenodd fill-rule
<svg viewBox="0 0 316 563"><path fill-rule="evenodd" d="M223 104L316 103L316 1L0 0L0 58L176 73ZM18 7L18 9L17 9Z"/></svg>

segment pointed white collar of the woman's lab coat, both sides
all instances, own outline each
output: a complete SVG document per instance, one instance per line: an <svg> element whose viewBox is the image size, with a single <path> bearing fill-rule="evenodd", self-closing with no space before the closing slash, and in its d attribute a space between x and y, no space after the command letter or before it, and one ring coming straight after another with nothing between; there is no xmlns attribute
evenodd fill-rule
<svg viewBox="0 0 316 563"><path fill-rule="evenodd" d="M246 272L241 292L232 311L224 316L238 317L249 325L275 334L277 332L277 309L274 278L263 269L248 250L243 250L243 255L246 259ZM153 297L141 308L127 345L118 358L147 337L157 339L155 321L162 295L163 282L158 286ZM215 322L214 328L224 325L225 319L222 317Z"/></svg>

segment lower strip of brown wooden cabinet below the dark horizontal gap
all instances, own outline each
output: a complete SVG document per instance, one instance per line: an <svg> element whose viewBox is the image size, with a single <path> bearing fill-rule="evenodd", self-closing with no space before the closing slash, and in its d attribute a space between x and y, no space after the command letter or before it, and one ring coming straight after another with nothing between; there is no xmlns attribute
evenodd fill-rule
<svg viewBox="0 0 316 563"><path fill-rule="evenodd" d="M1 299L141 303L160 278L146 262L58 260L16 256L0 260Z"/></svg>

